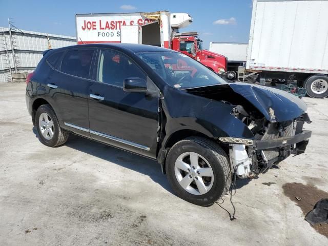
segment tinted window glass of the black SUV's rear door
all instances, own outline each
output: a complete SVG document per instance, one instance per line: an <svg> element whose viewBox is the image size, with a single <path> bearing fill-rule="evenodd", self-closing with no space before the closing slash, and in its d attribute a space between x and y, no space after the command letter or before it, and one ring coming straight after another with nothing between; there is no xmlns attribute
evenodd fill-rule
<svg viewBox="0 0 328 246"><path fill-rule="evenodd" d="M60 71L81 78L89 78L93 50L71 50L61 62Z"/></svg>

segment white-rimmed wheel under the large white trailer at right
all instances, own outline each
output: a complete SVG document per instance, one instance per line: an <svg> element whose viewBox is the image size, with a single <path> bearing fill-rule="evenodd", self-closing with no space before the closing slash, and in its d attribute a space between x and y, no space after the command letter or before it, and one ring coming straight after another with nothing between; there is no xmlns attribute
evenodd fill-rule
<svg viewBox="0 0 328 246"><path fill-rule="evenodd" d="M306 93L314 98L324 98L328 96L328 76L313 75L305 80Z"/></svg>

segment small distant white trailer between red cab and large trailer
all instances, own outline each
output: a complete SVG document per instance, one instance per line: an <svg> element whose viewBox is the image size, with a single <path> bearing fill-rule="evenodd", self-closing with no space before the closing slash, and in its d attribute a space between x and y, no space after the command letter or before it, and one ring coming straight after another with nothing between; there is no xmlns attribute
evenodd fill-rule
<svg viewBox="0 0 328 246"><path fill-rule="evenodd" d="M224 55L228 59L227 77L237 77L239 66L246 65L248 43L210 42L210 51Z"/></svg>

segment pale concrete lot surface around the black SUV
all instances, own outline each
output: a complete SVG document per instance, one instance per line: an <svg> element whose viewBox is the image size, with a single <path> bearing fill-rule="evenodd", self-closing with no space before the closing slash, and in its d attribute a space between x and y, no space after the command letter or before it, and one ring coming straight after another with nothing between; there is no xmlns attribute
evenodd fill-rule
<svg viewBox="0 0 328 246"><path fill-rule="evenodd" d="M313 120L305 125L313 131L306 153L241 180L230 221L217 204L178 198L152 160L77 136L59 148L42 145L25 83L2 84L0 244L327 245L282 188L298 182L328 191L328 99L304 101ZM232 212L228 196L221 206Z"/></svg>

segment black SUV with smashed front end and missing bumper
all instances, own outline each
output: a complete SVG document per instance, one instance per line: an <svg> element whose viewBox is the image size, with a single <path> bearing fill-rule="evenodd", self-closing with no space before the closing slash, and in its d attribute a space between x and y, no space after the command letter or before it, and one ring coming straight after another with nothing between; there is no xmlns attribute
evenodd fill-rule
<svg viewBox="0 0 328 246"><path fill-rule="evenodd" d="M27 78L39 140L69 134L157 160L183 199L209 206L236 177L304 152L306 105L280 90L228 84L196 60L132 44L48 50Z"/></svg>

